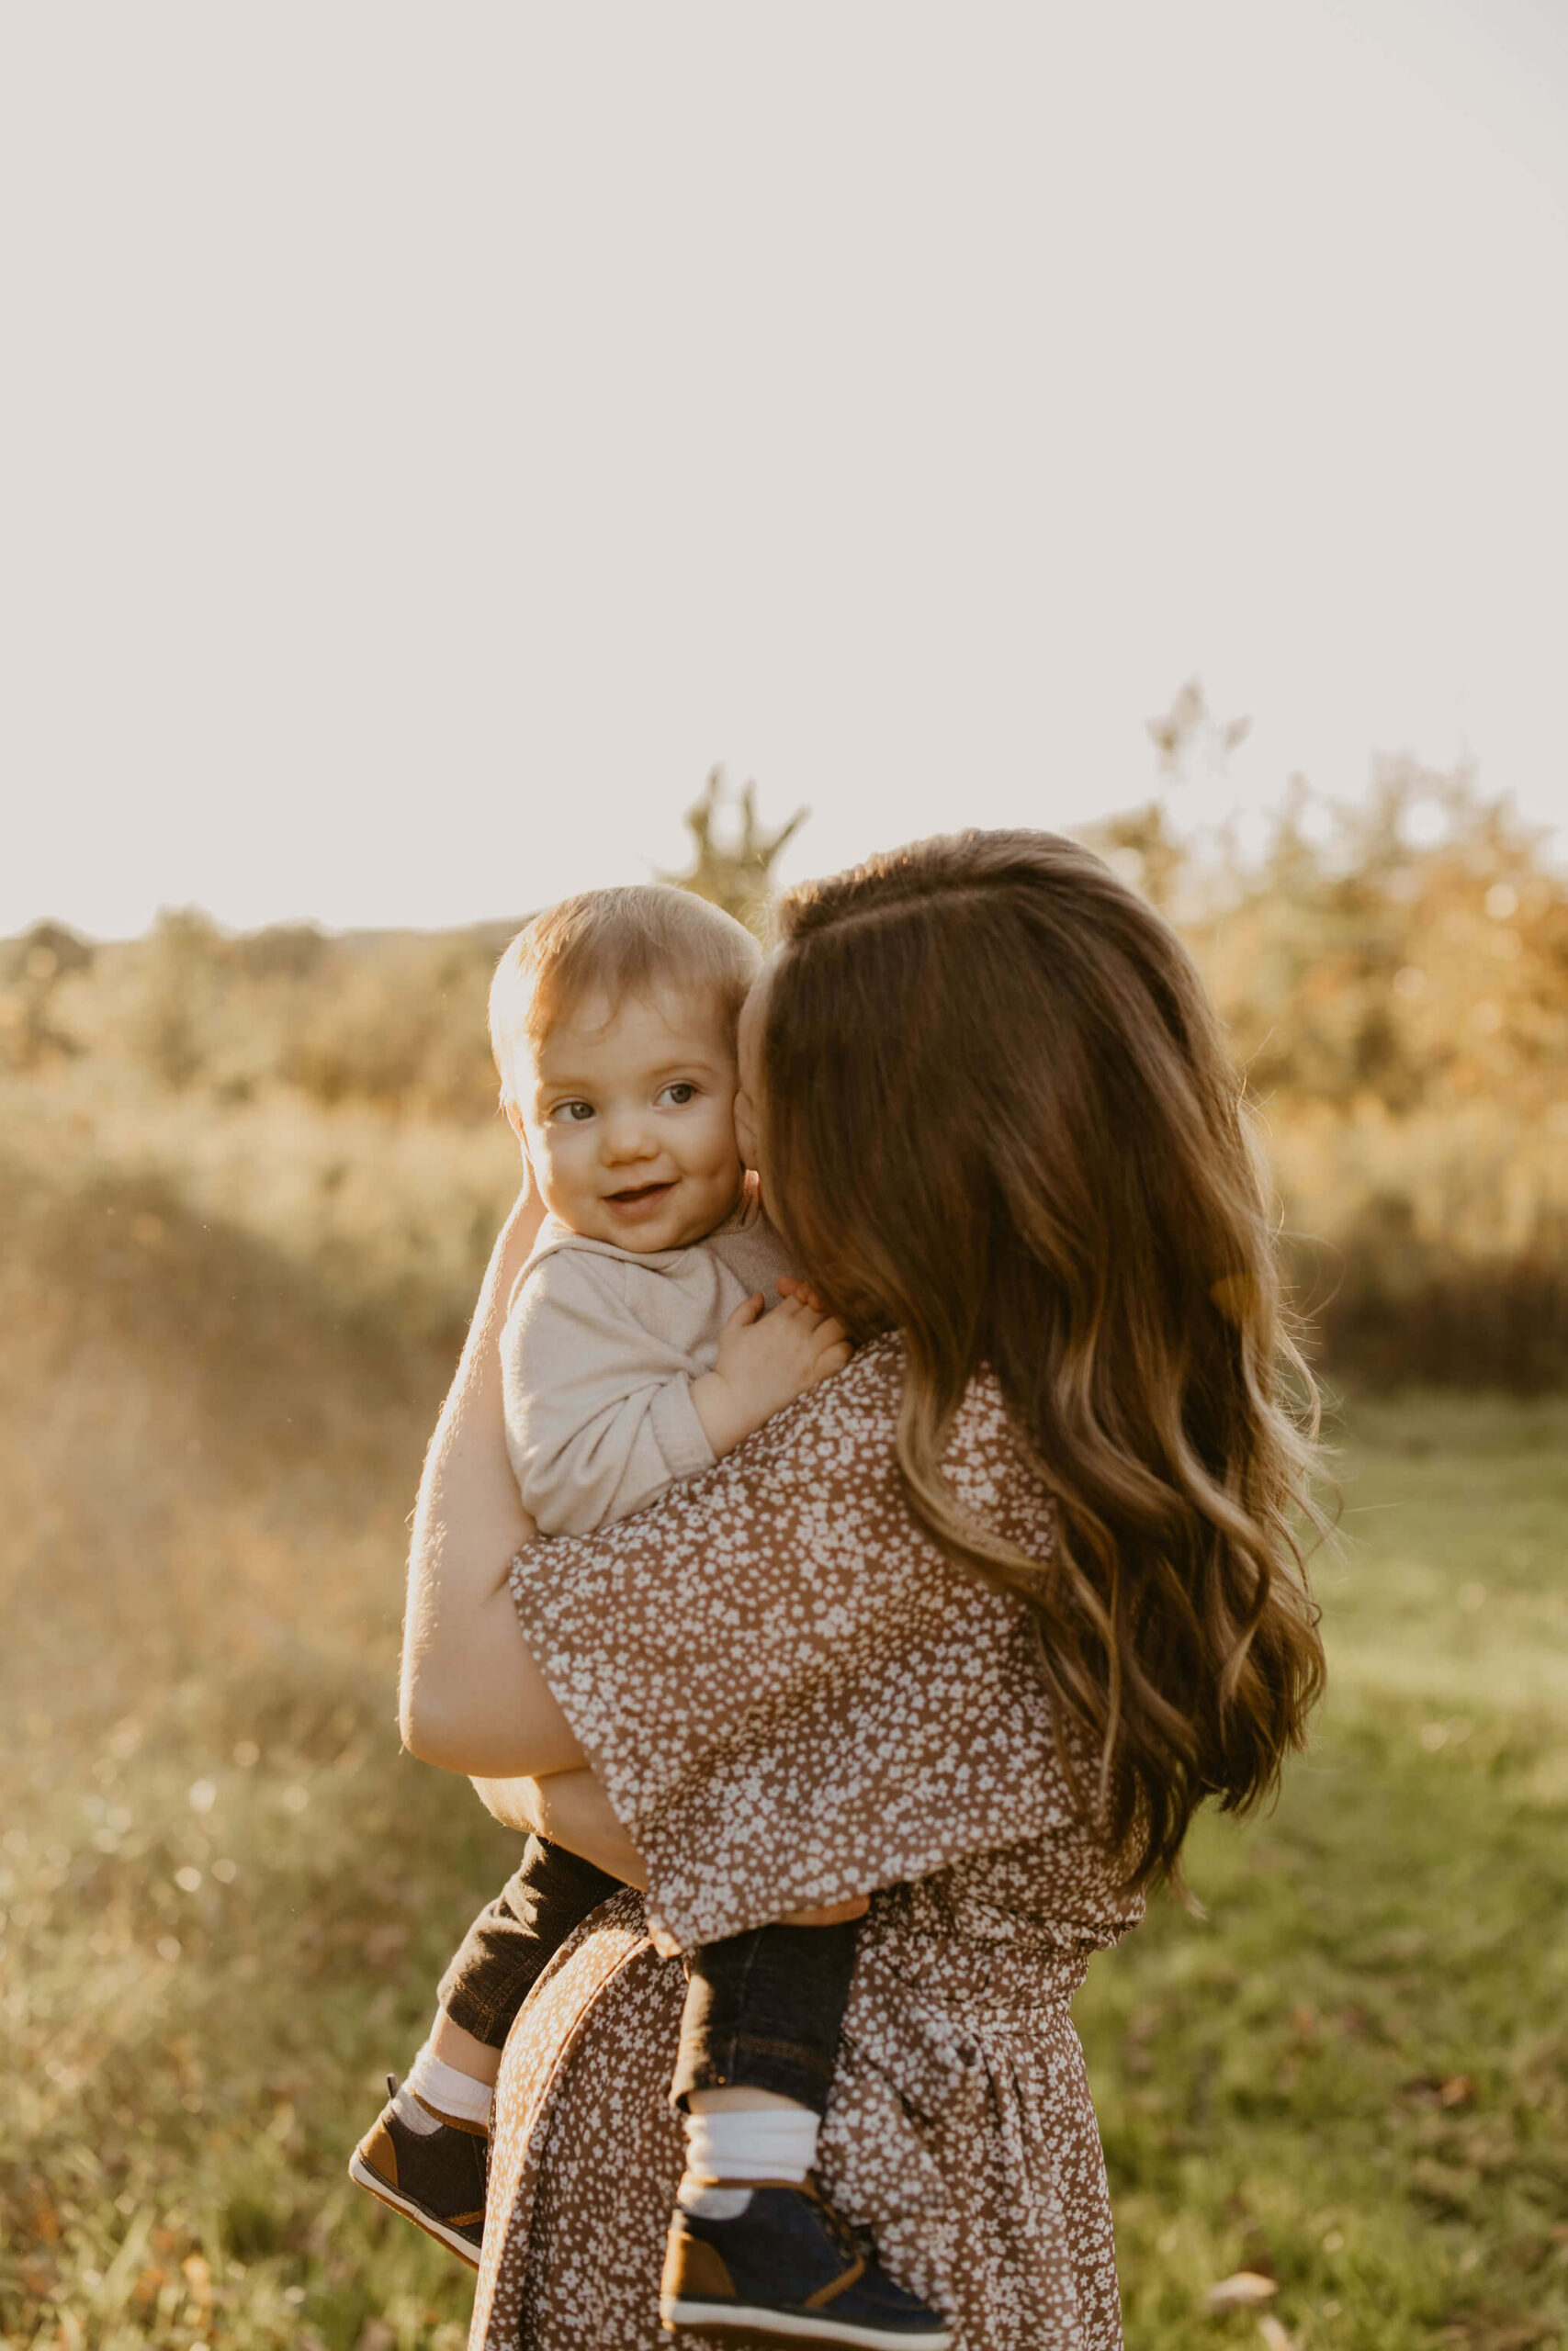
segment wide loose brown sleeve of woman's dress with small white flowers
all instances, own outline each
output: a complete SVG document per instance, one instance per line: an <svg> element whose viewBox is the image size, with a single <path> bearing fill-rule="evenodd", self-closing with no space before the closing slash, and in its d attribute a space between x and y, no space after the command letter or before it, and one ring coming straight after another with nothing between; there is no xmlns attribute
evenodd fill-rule
<svg viewBox="0 0 1568 2351"><path fill-rule="evenodd" d="M879 1340L705 1476L512 1568L524 1636L649 1871L663 1951L926 1876L1070 1820L1020 1601L912 1519ZM997 1396L947 1474L1032 1554Z"/></svg>

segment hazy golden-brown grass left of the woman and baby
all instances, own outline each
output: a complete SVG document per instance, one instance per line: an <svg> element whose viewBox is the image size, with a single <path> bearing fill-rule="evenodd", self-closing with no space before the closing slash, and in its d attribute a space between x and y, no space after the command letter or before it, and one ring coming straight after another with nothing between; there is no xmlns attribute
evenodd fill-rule
<svg viewBox="0 0 1568 2351"><path fill-rule="evenodd" d="M0 2335L454 2351L463 2276L343 2179L510 1850L397 1754L447 1354L75 1176L0 1185Z"/></svg>

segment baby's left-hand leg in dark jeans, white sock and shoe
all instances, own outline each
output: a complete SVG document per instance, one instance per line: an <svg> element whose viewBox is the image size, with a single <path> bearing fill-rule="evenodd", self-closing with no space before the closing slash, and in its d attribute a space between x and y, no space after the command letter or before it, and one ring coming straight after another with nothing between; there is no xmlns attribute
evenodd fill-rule
<svg viewBox="0 0 1568 2351"><path fill-rule="evenodd" d="M465 2262L480 2255L489 2106L512 2017L574 1928L618 1886L564 1846L529 1838L447 1968L425 2045L402 2083L388 2076L388 2104L353 2154L350 2179Z"/></svg>

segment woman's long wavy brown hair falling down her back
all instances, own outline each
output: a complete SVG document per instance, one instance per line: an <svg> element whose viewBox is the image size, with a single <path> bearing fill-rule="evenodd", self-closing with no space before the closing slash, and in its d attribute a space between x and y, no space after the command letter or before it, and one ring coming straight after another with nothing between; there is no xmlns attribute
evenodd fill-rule
<svg viewBox="0 0 1568 2351"><path fill-rule="evenodd" d="M792 891L759 1041L769 1204L856 1338L907 1349L898 1467L1037 1613L1058 1747L1131 1886L1276 1787L1324 1681L1300 1528L1316 1396L1244 1086L1185 947L1051 832L959 832ZM1044 1563L969 1519L990 1366L1056 1502ZM1295 1406L1286 1399L1295 1389Z"/></svg>

